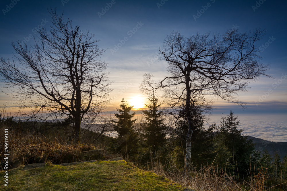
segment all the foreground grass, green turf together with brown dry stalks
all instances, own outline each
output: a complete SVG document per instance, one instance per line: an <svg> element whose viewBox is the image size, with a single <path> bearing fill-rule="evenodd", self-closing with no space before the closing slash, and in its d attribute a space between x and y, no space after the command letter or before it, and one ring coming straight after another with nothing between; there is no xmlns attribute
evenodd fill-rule
<svg viewBox="0 0 287 191"><path fill-rule="evenodd" d="M268 176L265 171L250 176L245 182L238 182L217 166L203 165L200 168L193 168L188 176L183 176L183 169L179 168L172 154L168 154L166 158L156 156L156 160L152 163L134 160L134 164L142 170L125 161L56 166L53 164L81 162L84 160L81 157L82 151L91 149L104 149L106 159L123 156L108 149L112 144L110 141L113 141L110 137L102 136L96 142L89 141L98 136L89 131L86 132L81 145L71 145L63 141L66 140L63 132L56 136L53 134L55 129L50 129L52 133L49 131L41 134L31 132L31 128L26 130L22 128L19 133L18 128L3 124L0 117L0 134L3 135L3 130L7 127L9 127L11 156L9 169L18 165L23 167L31 163L47 163L45 168L40 169L22 171L19 167L9 170L9 190L185 190L184 187L197 191L287 190L286 180L282 178L280 183L267 184ZM0 136L0 142L3 142L3 139L3 136ZM3 144L0 144L1 162L4 161L3 151ZM125 159L128 161L129 156ZM4 173L0 171L3 179ZM0 190L8 190L4 182L0 185Z"/></svg>

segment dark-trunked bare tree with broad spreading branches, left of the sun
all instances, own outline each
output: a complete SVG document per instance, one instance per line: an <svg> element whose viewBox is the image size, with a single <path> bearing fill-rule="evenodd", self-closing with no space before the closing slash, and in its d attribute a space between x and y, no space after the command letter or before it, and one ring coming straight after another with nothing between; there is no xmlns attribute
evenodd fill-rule
<svg viewBox="0 0 287 191"><path fill-rule="evenodd" d="M12 95L21 98L20 106L30 109L29 116L45 112L73 116L73 140L79 143L82 120L100 114L108 101L107 63L100 60L105 50L98 48L89 31L83 33L70 19L65 21L63 13L58 15L56 9L49 13L50 31L39 29L30 48L13 42L13 62L1 58L0 74Z"/></svg>

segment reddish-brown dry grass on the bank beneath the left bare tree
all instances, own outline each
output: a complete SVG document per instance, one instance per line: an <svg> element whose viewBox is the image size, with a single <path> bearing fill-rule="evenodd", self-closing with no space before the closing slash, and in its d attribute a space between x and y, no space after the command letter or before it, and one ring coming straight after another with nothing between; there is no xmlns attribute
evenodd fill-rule
<svg viewBox="0 0 287 191"><path fill-rule="evenodd" d="M6 128L6 127L5 127ZM0 134L4 134L4 127L1 127ZM0 141L3 142L3 136ZM0 153L4 148L1 145ZM43 163L51 161L53 164L65 162L81 162L84 160L81 153L95 149L92 145L68 145L61 144L54 139L50 141L40 134L23 133L17 134L9 129L9 165L17 167L32 163ZM0 155L3 160L4 155Z"/></svg>

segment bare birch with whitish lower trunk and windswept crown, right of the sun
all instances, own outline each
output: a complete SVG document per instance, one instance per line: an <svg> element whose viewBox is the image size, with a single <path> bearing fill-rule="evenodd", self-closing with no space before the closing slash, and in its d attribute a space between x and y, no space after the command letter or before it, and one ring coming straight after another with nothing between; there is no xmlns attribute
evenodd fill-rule
<svg viewBox="0 0 287 191"><path fill-rule="evenodd" d="M256 44L265 31L256 29L245 33L228 30L219 34L195 34L189 38L179 31L171 32L160 50L168 63L169 76L160 82L165 96L175 107L185 101L188 121L186 135L185 172L191 166L191 136L194 130L191 106L196 100L211 95L243 106L233 94L246 91L249 80L257 80L269 66L260 62ZM270 77L270 76L269 76Z"/></svg>

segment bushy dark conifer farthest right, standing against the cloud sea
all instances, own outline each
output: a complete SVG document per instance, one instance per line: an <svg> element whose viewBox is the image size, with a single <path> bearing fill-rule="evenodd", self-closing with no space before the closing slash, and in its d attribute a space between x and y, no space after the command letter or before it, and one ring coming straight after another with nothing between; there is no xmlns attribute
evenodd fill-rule
<svg viewBox="0 0 287 191"><path fill-rule="evenodd" d="M237 129L238 125L239 120L237 120L237 117L234 116L232 111L227 115L227 118L222 116L221 125L219 127L220 131L217 132L215 137L215 151L218 152L221 150L221 147L227 150L225 153L221 153L225 156L227 163L224 164L221 162L221 164L218 165L227 170L228 173L236 174L243 178L249 170L252 170L250 168L255 167L259 160L259 153L255 152L253 140L248 140L248 137L243 135L243 129ZM226 155L226 153L228 153L228 155ZM222 158L220 153L217 157Z"/></svg>

